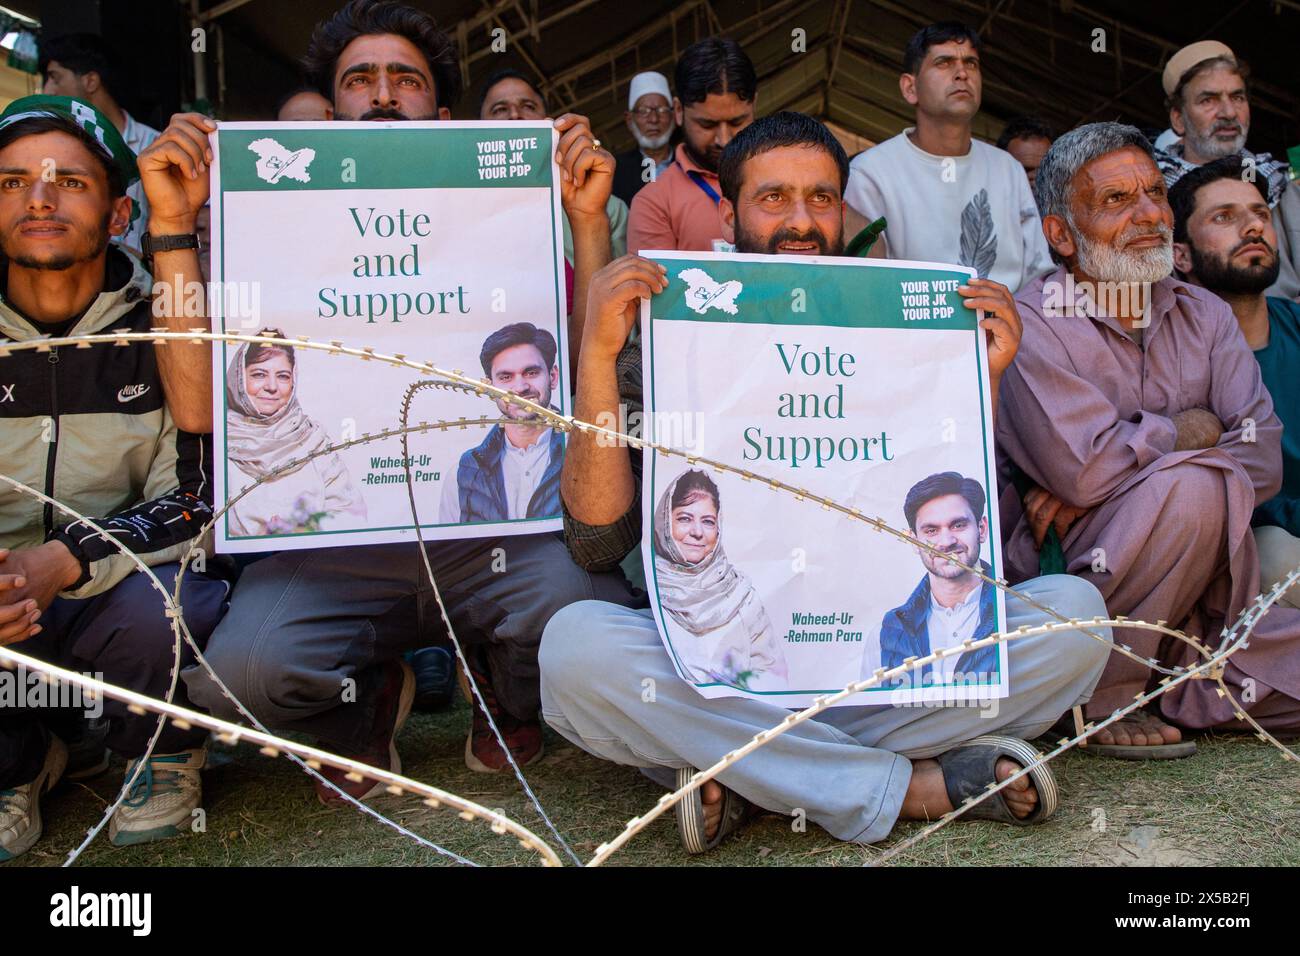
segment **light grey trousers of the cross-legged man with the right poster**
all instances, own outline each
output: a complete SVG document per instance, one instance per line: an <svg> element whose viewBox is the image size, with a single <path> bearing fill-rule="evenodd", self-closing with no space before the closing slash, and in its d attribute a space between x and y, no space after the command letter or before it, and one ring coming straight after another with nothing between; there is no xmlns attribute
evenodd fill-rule
<svg viewBox="0 0 1300 956"><path fill-rule="evenodd" d="M1082 578L1050 575L1019 585L1067 618L1105 615ZM1045 623L1008 597L1008 630ZM1109 641L1109 628L1095 628ZM1009 644L1011 696L982 706L832 708L741 758L719 783L774 813L802 809L832 836L875 843L893 829L911 760L933 757L982 734L1032 739L1092 695L1109 644L1079 631ZM671 783L672 769L707 767L775 727L788 710L757 700L706 700L677 678L649 610L586 601L546 626L542 715L584 750L642 767ZM646 679L653 684L646 684ZM647 693L653 688L654 693Z"/></svg>

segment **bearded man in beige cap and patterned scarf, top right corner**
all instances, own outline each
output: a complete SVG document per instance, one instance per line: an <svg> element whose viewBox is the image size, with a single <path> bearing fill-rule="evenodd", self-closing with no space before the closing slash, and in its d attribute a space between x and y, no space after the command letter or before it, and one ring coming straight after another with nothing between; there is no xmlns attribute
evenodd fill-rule
<svg viewBox="0 0 1300 956"><path fill-rule="evenodd" d="M1182 142L1156 151L1156 163L1173 189L1178 179L1205 163L1240 156L1251 178L1268 183L1269 208L1278 242L1278 277L1266 290L1300 300L1300 190L1290 181L1290 166L1266 152L1251 152L1249 70L1218 40L1200 40L1169 57L1162 75L1169 125Z"/></svg>

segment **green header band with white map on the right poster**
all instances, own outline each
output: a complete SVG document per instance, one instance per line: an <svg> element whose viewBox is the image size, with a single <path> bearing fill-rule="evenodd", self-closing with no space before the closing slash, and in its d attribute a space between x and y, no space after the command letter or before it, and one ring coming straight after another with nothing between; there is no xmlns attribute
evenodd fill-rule
<svg viewBox="0 0 1300 956"><path fill-rule="evenodd" d="M788 263L766 256L649 258L668 269L668 287L650 300L655 321L948 332L976 328L975 310L966 308L957 293L970 273L956 268Z"/></svg>

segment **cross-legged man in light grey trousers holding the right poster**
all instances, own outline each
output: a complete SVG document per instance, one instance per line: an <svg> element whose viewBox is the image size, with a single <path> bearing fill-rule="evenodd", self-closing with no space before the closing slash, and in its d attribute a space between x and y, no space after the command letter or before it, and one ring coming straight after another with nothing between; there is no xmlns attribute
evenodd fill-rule
<svg viewBox="0 0 1300 956"><path fill-rule="evenodd" d="M786 112L758 120L731 142L720 169L723 221L738 251L842 252L849 161L822 124ZM640 410L640 338L628 342L628 330L637 321L638 299L666 285L664 271L638 256L619 259L597 274L578 369L577 418L619 420L620 402ZM958 291L967 307L987 313L982 324L989 333L996 389L1019 338L1014 302L1005 286L985 280L972 280ZM614 442L575 434L560 489L566 538L582 567L614 567L638 545L638 464L637 451L629 457ZM1105 614L1096 588L1076 578L1044 578L1024 591L1070 618ZM1006 611L1009 630L1046 619L1014 597L1008 598ZM779 813L803 808L833 836L863 843L884 839L896 819L952 810L962 795L1018 771L1022 763L1008 754L1024 761L1032 752L1009 737L997 745L967 747L967 741L996 732L1035 737L1088 698L1109 652L1106 628L1093 630L1102 640L1066 631L1011 641L1013 693L998 701L993 717L970 708L850 706L801 723L705 784L681 812L698 821L698 810L705 818L703 825L682 827L688 849L708 848L729 832L736 816L724 816L723 808L737 804L733 795ZM675 770L710 766L789 714L757 700L702 697L677 678L649 610L599 601L566 607L546 627L541 667L542 714L555 730L582 749L641 767L664 784L672 783ZM654 704L641 696L646 678L655 683ZM968 760L978 770L963 771L958 761L948 760L958 749L961 762ZM1036 782L1026 775L972 816L985 816L984 810L1006 822L1041 819L1054 805L1054 788L1041 788L1049 779L1049 770L1040 771Z"/></svg>

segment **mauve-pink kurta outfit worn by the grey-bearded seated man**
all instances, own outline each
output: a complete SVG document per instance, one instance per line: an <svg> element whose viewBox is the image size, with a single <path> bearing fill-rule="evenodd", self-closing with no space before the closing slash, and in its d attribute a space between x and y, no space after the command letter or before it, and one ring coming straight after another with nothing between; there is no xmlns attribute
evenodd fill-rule
<svg viewBox="0 0 1300 956"><path fill-rule="evenodd" d="M1143 347L1112 317L1044 315L1050 284L1065 280L1058 268L1015 297L1024 334L1000 389L1000 454L1091 509L1062 548L1067 570L1096 584L1113 615L1165 620L1214 648L1225 620L1258 593L1251 512L1282 481L1282 423L1260 368L1231 310L1204 289L1157 282ZM1218 445L1174 451L1171 418L1197 406L1223 423ZM1008 574L1034 576L1037 550L1014 489L1002 505ZM1166 665L1196 657L1150 631L1119 628L1115 643ZM1131 702L1158 676L1113 654L1088 717ZM1300 610L1274 606L1226 680L1265 726L1300 726ZM1188 727L1232 722L1232 705L1206 680L1165 695L1161 710Z"/></svg>

